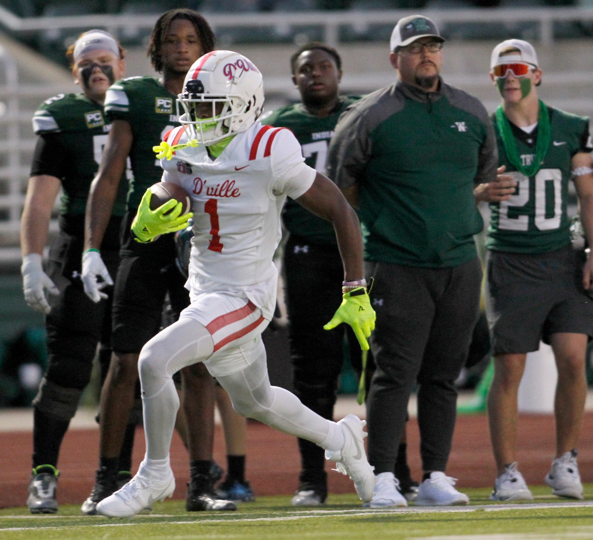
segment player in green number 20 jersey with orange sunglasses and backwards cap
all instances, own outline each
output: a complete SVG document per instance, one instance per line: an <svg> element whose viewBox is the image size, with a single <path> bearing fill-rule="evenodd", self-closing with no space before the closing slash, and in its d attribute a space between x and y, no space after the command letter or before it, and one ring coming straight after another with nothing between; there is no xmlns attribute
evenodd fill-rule
<svg viewBox="0 0 593 540"><path fill-rule="evenodd" d="M571 247L566 211L575 183L586 237L593 239L589 119L537 96L541 69L533 46L512 39L492 52L490 76L502 95L493 115L499 164L514 178L512 196L490 204L486 246L487 316L495 357L488 412L498 469L492 500L531 500L515 461L517 392L527 352L540 340L556 358L556 459L546 483L582 498L576 444L585 406L585 350L593 336L593 263Z"/></svg>

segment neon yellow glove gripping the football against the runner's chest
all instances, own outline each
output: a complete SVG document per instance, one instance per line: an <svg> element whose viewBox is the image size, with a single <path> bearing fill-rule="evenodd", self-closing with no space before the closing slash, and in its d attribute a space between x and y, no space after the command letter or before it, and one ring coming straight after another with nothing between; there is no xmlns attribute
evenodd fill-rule
<svg viewBox="0 0 593 540"><path fill-rule="evenodd" d="M132 221L132 232L136 242L152 242L161 234L174 233L175 231L186 228L189 224L187 220L193 217L192 212L181 214L183 204L175 199L165 202L164 205L156 210L150 209L150 199L152 192L150 188L142 195L142 201L136 212L136 217ZM169 212L167 214L167 212ZM166 215L165 215L166 214Z"/></svg>

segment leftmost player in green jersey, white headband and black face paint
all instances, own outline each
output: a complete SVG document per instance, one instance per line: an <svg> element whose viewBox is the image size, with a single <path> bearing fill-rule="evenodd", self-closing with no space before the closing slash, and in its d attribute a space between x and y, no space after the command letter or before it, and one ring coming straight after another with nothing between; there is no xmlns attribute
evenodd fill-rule
<svg viewBox="0 0 593 540"><path fill-rule="evenodd" d="M46 314L48 364L33 405L33 475L27 506L32 513L58 511L58 454L93 358L109 357L111 289L94 303L83 291L81 256L88 190L101 160L111 125L103 110L107 88L123 76L124 53L102 30L90 30L69 50L79 94L58 94L33 116L39 135L21 222L25 300ZM120 177L125 169L120 172ZM119 182L119 180L118 180ZM119 263L119 228L126 207L126 182L119 183L98 245L109 272ZM117 187L117 186L116 186ZM46 272L43 247L58 192L62 188L59 233L52 242ZM44 289L50 293L46 298Z"/></svg>

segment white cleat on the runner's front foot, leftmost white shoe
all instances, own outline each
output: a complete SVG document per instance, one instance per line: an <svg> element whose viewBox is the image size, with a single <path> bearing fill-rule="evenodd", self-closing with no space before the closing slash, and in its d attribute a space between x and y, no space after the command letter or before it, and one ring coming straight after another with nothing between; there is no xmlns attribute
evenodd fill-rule
<svg viewBox="0 0 593 540"><path fill-rule="evenodd" d="M164 480L141 475L142 465L126 485L97 504L97 513L108 517L130 517L148 508L155 501L173 497L175 477L169 469ZM144 472L144 471L143 471Z"/></svg>

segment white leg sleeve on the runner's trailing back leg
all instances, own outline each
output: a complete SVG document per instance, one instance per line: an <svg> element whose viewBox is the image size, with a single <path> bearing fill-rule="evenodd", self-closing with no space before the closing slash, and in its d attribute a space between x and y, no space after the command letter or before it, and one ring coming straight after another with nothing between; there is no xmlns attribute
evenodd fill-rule
<svg viewBox="0 0 593 540"><path fill-rule="evenodd" d="M216 380L227 390L232 407L238 414L255 418L283 433L295 435L315 444L339 450L343 444L340 427L320 417L301 403L293 393L270 386L267 376L266 350L262 338L253 354L256 360L249 367ZM337 446L337 447L336 447Z"/></svg>

